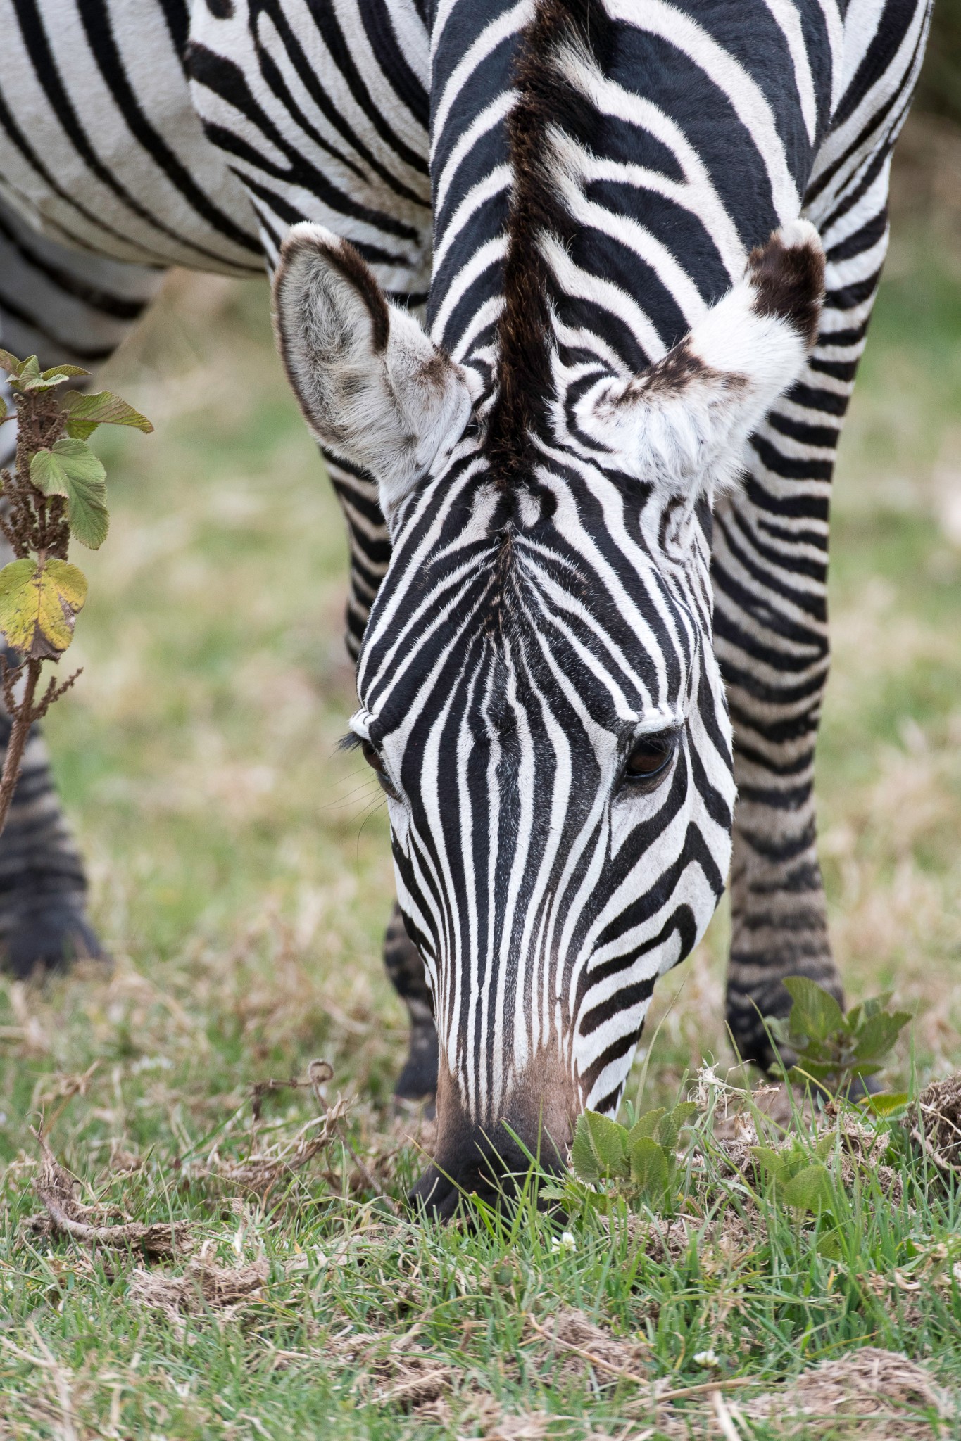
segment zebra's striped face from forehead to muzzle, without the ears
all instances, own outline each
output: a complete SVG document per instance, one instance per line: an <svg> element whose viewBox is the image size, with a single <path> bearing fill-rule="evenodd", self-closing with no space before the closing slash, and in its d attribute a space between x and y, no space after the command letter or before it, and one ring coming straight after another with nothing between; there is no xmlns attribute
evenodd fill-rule
<svg viewBox="0 0 961 1441"><path fill-rule="evenodd" d="M723 889L709 513L671 523L599 468L545 457L499 497L464 457L411 501L370 617L353 731L434 994L438 1167L474 1189L491 1150L524 1166L501 1121L550 1160L584 1105L617 1108L654 980Z"/></svg>

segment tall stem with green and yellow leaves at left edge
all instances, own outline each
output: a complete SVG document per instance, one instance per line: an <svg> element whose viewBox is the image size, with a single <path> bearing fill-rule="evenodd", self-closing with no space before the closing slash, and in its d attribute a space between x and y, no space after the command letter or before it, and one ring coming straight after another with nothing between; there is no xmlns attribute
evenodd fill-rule
<svg viewBox="0 0 961 1441"><path fill-rule="evenodd" d="M3 830L30 726L79 676L78 670L59 684L50 679L36 699L43 661L59 661L86 601L86 576L66 559L69 542L98 550L109 526L107 476L86 441L98 425L140 431L153 425L109 391L63 391L68 380L88 375L81 366L40 370L36 356L17 360L0 350L0 369L16 396L16 412L9 412L0 396L0 425L17 422L13 468L0 471L0 532L16 556L0 571L0 631L20 656L19 664L0 657L0 689L10 718L0 775Z"/></svg>

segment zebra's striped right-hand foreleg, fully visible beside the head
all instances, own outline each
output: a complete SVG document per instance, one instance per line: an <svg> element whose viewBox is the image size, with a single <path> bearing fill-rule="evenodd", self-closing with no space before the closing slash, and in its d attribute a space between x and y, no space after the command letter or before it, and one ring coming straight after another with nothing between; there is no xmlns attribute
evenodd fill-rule
<svg viewBox="0 0 961 1441"><path fill-rule="evenodd" d="M843 1000L817 859L814 746L828 673L827 542L834 452L885 256L888 173L860 215L823 226L827 298L808 369L752 440L746 483L715 510L715 647L735 728L728 1025L769 1066L765 1016L790 976ZM834 241L834 244L833 244Z"/></svg>

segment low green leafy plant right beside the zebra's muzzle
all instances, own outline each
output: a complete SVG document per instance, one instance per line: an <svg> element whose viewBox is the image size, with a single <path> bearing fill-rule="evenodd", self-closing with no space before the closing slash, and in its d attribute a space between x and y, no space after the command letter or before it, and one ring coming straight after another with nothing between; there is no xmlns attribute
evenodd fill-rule
<svg viewBox="0 0 961 1441"><path fill-rule="evenodd" d="M693 1101L680 1101L670 1111L664 1107L647 1111L630 1130L596 1111L585 1111L578 1117L571 1147L572 1185L542 1195L563 1200L575 1212L585 1205L607 1210L617 1197L673 1210L677 1144L696 1111Z"/></svg>

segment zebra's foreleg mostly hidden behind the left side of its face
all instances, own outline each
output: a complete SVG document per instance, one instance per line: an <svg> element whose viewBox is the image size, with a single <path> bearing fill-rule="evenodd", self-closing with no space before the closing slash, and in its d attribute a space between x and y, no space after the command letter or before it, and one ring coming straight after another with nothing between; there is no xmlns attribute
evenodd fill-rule
<svg viewBox="0 0 961 1441"><path fill-rule="evenodd" d="M390 540L373 480L334 455L324 454L324 460L347 522L350 594L346 641L350 657L356 660L373 598L390 559ZM432 1097L438 1066L434 1001L421 953L408 937L396 901L383 938L383 964L411 1017L411 1050L393 1094L401 1099Z"/></svg>

